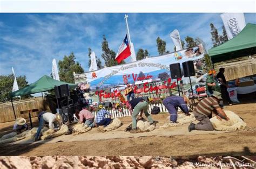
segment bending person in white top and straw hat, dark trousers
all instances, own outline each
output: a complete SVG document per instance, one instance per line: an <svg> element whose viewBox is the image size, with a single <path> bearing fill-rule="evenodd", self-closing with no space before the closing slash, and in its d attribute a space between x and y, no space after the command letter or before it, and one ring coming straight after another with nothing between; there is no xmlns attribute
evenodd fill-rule
<svg viewBox="0 0 256 169"><path fill-rule="evenodd" d="M35 141L39 140L40 133L45 122L49 123L49 129L54 129L55 127L57 127L57 124L59 128L62 126L62 116L60 116L60 114L58 113L52 114L51 112L41 112L38 115L38 119L39 119L39 126L37 129Z"/></svg>

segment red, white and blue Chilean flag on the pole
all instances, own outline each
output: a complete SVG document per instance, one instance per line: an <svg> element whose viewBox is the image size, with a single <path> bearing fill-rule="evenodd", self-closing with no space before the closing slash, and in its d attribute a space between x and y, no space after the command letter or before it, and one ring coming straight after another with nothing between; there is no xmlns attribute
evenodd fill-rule
<svg viewBox="0 0 256 169"><path fill-rule="evenodd" d="M129 46L127 34L126 34L123 43L121 44L121 46L118 49L117 56L115 59L117 60L117 62L119 64L122 60L130 57L130 55L131 55L131 50L130 50L130 46Z"/></svg>

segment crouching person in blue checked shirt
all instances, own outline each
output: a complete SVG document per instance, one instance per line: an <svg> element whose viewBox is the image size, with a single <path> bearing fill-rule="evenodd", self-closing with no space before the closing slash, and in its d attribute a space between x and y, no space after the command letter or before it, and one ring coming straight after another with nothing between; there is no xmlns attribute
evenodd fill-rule
<svg viewBox="0 0 256 169"><path fill-rule="evenodd" d="M99 105L100 110L97 112L95 123L96 127L103 125L104 127L109 125L112 121L111 114L109 111L107 111L105 108L102 107L102 105ZM110 118L106 118L105 116L109 115Z"/></svg>

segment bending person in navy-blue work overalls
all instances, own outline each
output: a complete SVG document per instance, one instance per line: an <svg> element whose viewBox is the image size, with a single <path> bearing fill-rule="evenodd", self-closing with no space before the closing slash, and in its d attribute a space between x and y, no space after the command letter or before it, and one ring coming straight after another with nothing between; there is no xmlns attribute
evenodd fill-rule
<svg viewBox="0 0 256 169"><path fill-rule="evenodd" d="M187 115L190 116L190 113L187 109L188 98L186 96L170 96L166 97L163 101L164 106L170 113L170 121L172 123L177 123L177 109L178 107Z"/></svg>

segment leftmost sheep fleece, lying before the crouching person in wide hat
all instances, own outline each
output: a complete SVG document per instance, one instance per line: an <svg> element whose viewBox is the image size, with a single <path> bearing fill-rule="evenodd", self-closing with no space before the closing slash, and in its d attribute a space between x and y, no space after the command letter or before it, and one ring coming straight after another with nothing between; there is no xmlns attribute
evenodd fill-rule
<svg viewBox="0 0 256 169"><path fill-rule="evenodd" d="M36 135L38 128L32 128L31 130L26 130L20 134L17 135L17 133L15 134L14 132L11 132L7 135L4 135L1 140L0 140L0 144L4 144L4 143L12 143L12 142L17 142L18 140L22 140L22 139L30 139L30 138L34 138ZM43 128L41 130L41 133L43 133L44 131L48 130L48 128ZM11 137L12 136L12 137Z"/></svg>

